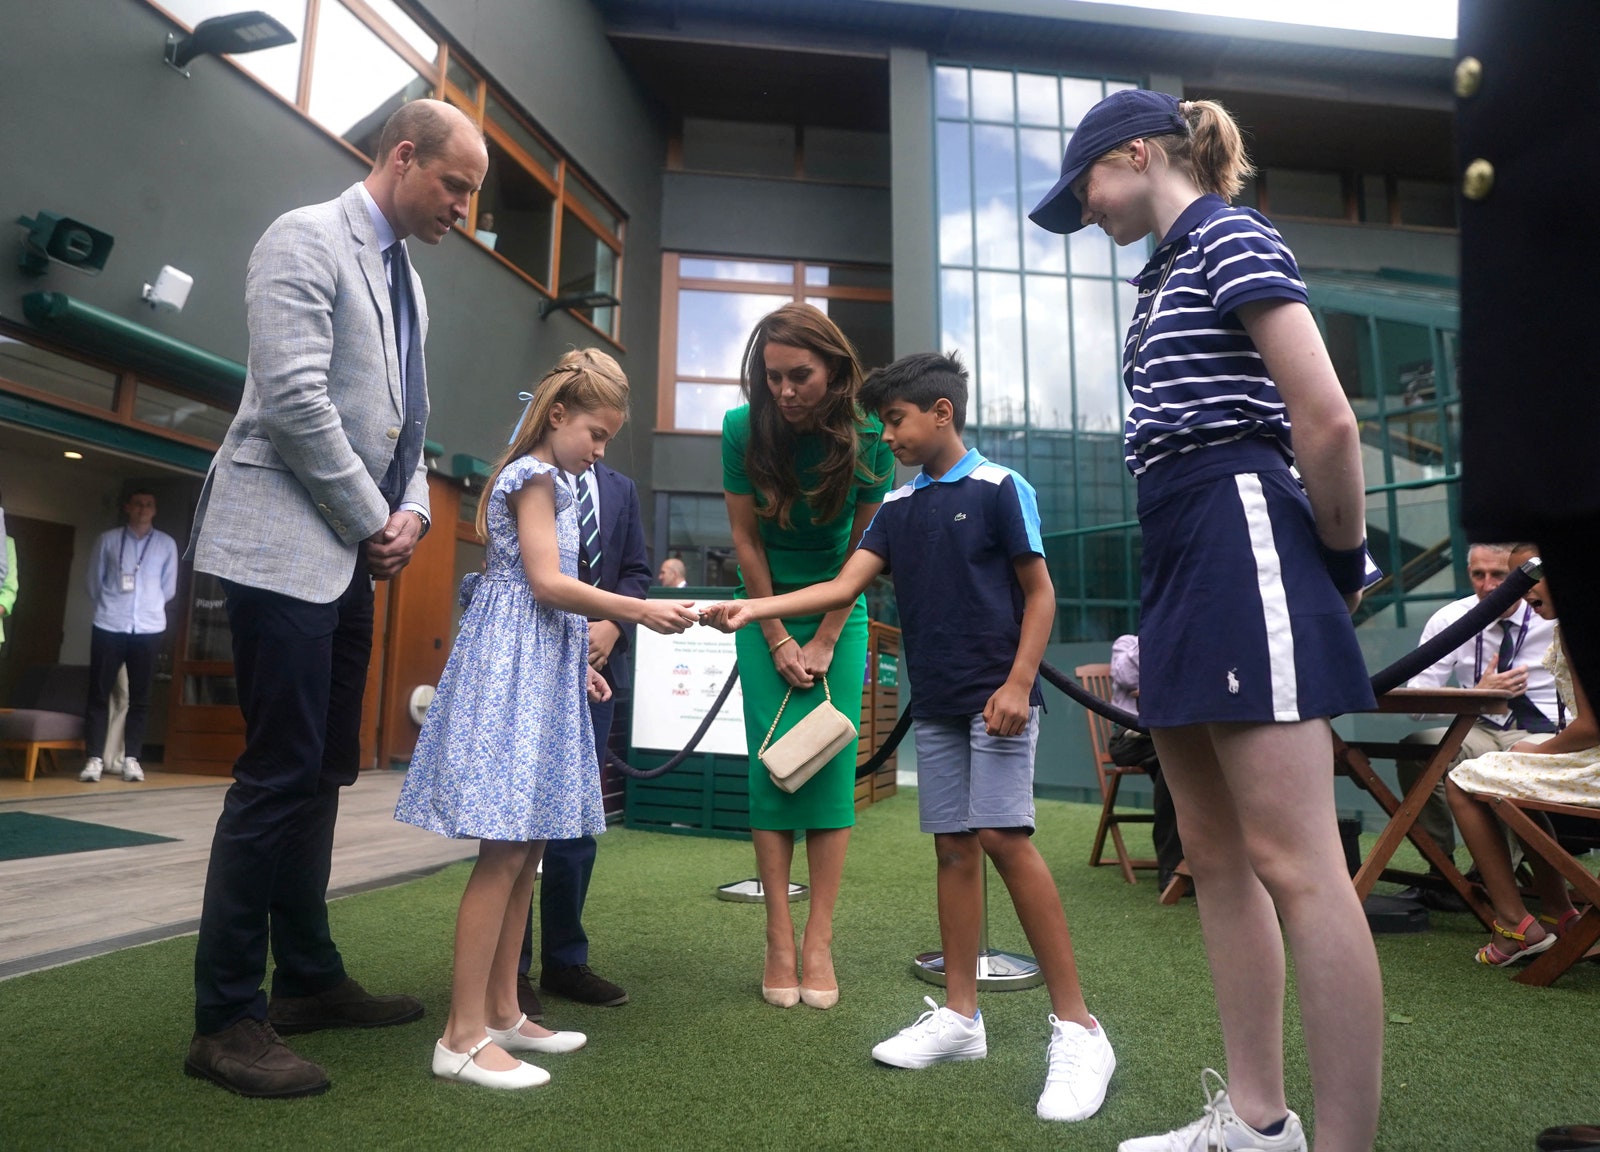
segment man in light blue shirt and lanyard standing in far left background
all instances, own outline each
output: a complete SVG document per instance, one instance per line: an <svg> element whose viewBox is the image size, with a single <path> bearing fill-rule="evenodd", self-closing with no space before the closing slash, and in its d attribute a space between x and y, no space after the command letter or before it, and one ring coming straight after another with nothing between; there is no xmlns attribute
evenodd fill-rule
<svg viewBox="0 0 1600 1152"><path fill-rule="evenodd" d="M106 771L106 725L117 669L128 666L128 723L122 778L142 781L144 720L150 712L155 651L166 632L166 602L178 594L178 544L155 526L155 496L136 490L122 507L128 523L102 533L90 555L94 602L90 637L90 696L85 706L88 758L78 779L99 782Z"/></svg>

